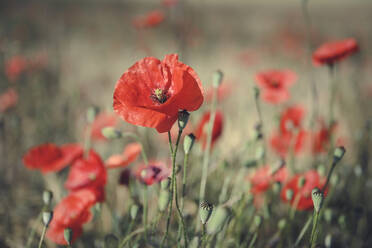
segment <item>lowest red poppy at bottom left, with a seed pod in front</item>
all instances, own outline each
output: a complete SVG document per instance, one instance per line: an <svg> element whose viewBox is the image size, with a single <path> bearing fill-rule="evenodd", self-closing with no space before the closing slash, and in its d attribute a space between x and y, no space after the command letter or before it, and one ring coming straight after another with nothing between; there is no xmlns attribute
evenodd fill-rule
<svg viewBox="0 0 372 248"><path fill-rule="evenodd" d="M91 189L70 193L54 208L46 236L57 244L66 245L64 229L71 228L74 242L83 232L82 225L91 220L90 208L96 202L97 194Z"/></svg>

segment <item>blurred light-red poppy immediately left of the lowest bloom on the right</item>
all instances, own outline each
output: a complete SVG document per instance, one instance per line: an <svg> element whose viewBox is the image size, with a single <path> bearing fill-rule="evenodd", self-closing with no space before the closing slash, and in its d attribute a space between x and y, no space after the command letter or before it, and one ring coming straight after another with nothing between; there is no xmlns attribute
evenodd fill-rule
<svg viewBox="0 0 372 248"><path fill-rule="evenodd" d="M272 171L268 165L261 166L249 176L252 194L261 194L269 189L273 182L285 182L288 177L288 170L282 167L277 171Z"/></svg>

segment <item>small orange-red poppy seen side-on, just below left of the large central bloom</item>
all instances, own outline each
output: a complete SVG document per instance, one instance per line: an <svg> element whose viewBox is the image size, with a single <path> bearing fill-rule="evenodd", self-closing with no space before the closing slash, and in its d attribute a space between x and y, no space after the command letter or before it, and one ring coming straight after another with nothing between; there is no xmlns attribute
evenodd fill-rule
<svg viewBox="0 0 372 248"><path fill-rule="evenodd" d="M115 154L110 156L105 162L106 167L111 169L128 166L130 163L133 163L137 159L141 151L141 144L137 142L130 143L124 148L122 154Z"/></svg>

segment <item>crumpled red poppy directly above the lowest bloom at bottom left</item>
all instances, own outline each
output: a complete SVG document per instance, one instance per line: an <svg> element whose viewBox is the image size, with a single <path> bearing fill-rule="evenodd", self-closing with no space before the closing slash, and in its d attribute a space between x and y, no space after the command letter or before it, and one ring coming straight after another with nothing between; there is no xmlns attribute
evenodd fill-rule
<svg viewBox="0 0 372 248"><path fill-rule="evenodd" d="M87 158L80 158L71 166L65 188L73 191L85 187L101 188L106 180L107 172L101 158L90 150Z"/></svg>

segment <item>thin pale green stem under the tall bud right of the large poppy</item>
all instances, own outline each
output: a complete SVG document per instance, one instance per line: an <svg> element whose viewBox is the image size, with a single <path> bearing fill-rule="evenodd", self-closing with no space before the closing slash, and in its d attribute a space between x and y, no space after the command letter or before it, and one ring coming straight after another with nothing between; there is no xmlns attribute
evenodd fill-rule
<svg viewBox="0 0 372 248"><path fill-rule="evenodd" d="M217 106L217 87L213 88L213 95L212 95L212 106L210 112L210 118L207 126L207 145L204 151L203 157L203 170L202 170L202 178L200 182L200 193L199 193L199 205L205 198L205 188L207 186L207 177L208 177L208 165L210 159L210 152L211 152L211 144L212 144L212 131L214 126L214 120L216 118L216 106ZM199 209L200 211L200 209ZM200 230L200 222L196 222L196 229Z"/></svg>

